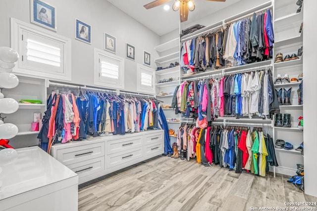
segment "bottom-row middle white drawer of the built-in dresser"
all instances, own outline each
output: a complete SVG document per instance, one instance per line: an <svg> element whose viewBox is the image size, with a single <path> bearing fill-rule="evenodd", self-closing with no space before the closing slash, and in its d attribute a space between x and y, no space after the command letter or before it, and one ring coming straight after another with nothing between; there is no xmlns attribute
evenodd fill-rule
<svg viewBox="0 0 317 211"><path fill-rule="evenodd" d="M135 148L129 151L119 152L107 156L107 168L112 168L128 163L143 156L143 148Z"/></svg>

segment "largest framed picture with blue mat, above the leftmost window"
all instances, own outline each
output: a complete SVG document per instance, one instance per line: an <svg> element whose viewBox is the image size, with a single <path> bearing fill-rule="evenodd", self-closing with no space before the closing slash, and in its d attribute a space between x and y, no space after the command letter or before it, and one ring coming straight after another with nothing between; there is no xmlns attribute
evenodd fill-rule
<svg viewBox="0 0 317 211"><path fill-rule="evenodd" d="M31 22L56 31L56 9L39 0L31 0Z"/></svg>

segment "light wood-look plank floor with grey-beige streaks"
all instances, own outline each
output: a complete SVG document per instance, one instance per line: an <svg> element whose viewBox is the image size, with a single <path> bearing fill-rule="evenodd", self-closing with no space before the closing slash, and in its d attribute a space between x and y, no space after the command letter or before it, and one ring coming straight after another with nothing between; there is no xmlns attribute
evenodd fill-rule
<svg viewBox="0 0 317 211"><path fill-rule="evenodd" d="M80 211L244 211L317 202L289 176L237 174L196 161L159 157L79 190ZM303 207L303 206L302 206ZM308 206L305 206L308 207Z"/></svg>

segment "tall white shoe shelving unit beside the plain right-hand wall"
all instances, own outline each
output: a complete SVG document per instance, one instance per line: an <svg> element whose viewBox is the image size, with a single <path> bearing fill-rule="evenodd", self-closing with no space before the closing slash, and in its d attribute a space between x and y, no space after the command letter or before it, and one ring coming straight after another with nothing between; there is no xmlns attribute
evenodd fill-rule
<svg viewBox="0 0 317 211"><path fill-rule="evenodd" d="M298 5L296 1L289 0L273 0L273 26L274 26L274 48L273 59L279 52L284 57L289 54L298 52L298 49L303 46L303 35L299 33L300 25L303 22L303 6L299 13L296 13ZM303 56L299 59L290 60L286 62L274 63L273 74L274 78L280 74L282 77L285 74L289 78L297 78L303 72ZM304 82L305 83L305 82ZM273 139L282 139L285 142L293 144L293 150L276 149L275 154L279 167L276 167L276 172L293 176L296 174L296 164L303 164L304 158L299 151L295 149L303 142L303 132L299 130L298 117L303 116L303 105L298 105L297 89L298 83L289 84L276 84L275 89L280 88L289 89L291 91L291 105L280 106L280 113L291 114L292 126L291 127L273 127ZM274 123L274 122L273 122Z"/></svg>

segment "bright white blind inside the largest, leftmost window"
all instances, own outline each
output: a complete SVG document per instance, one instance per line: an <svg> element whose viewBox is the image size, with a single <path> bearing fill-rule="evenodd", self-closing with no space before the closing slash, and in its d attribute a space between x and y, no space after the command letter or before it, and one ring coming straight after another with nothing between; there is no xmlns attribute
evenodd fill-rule
<svg viewBox="0 0 317 211"><path fill-rule="evenodd" d="M60 48L27 39L27 60L60 67Z"/></svg>

